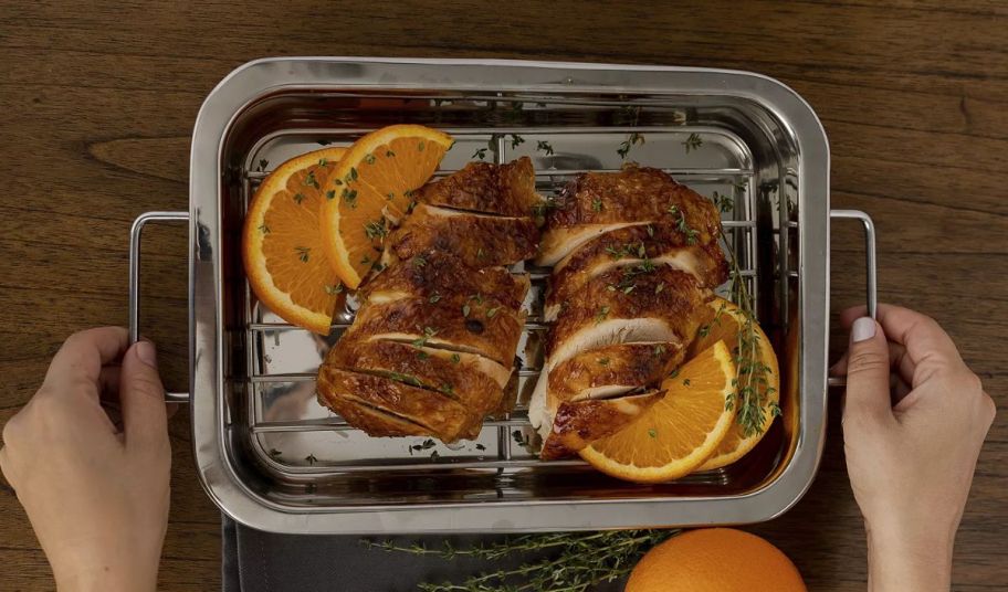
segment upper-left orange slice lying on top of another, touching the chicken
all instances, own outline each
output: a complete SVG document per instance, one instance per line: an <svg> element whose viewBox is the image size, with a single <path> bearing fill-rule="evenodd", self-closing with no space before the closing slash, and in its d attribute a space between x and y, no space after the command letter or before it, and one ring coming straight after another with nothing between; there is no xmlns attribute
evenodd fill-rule
<svg viewBox="0 0 1008 592"><path fill-rule="evenodd" d="M378 262L388 216L412 208L412 192L426 183L451 148L435 129L396 125L358 139L325 186L322 234L326 256L344 285L356 289Z"/></svg>

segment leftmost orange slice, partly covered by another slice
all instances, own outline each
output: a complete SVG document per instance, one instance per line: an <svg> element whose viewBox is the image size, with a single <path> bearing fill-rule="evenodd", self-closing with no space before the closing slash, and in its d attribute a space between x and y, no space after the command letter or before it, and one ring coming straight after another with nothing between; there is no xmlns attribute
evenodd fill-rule
<svg viewBox="0 0 1008 592"><path fill-rule="evenodd" d="M340 298L318 233L323 187L346 148L315 150L287 160L266 177L249 205L242 261L252 292L284 320L329 332Z"/></svg>

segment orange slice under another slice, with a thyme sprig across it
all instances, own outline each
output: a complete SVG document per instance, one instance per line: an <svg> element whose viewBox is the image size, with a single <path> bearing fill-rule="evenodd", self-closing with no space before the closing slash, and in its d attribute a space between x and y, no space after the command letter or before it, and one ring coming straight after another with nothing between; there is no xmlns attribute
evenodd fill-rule
<svg viewBox="0 0 1008 592"><path fill-rule="evenodd" d="M690 346L690 355L696 351L703 351L711 347L715 341L724 341L733 350L738 345L738 331L745 323L744 313L734 304L724 298L715 298L710 303L713 315L712 320L706 323L701 329L701 335L696 337ZM737 422L732 426L727 437L717 446L714 454L711 455L700 471L711 471L729 465L738 461L763 438L764 434L770 427L770 423L776 415L777 402L779 401L780 374L777 366L777 355L774 353L774 346L770 345L769 338L759 328L759 324L753 324L753 329L758 343L757 359L769 370L765 371L764 378L766 383L757 384L758 395L763 404L763 430L745 434L745 429ZM736 401L737 406L738 401Z"/></svg>

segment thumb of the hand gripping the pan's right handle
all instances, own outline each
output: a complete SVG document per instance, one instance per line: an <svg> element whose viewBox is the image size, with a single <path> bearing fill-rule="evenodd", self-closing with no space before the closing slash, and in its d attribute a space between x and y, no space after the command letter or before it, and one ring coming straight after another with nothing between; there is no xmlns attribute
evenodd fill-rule
<svg viewBox="0 0 1008 592"><path fill-rule="evenodd" d="M851 326L843 417L851 414L892 417L889 342L882 326L870 317L861 317Z"/></svg>

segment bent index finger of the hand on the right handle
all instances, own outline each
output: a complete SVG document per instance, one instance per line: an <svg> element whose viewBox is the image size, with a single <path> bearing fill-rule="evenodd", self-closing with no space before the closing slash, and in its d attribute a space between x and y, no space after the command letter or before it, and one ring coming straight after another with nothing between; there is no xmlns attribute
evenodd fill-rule
<svg viewBox="0 0 1008 592"><path fill-rule="evenodd" d="M879 305L879 324L892 341L906 348L913 366L911 387L943 367L965 367L955 342L933 318L909 308Z"/></svg>

